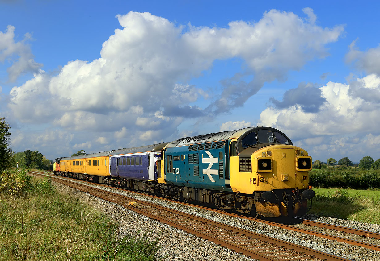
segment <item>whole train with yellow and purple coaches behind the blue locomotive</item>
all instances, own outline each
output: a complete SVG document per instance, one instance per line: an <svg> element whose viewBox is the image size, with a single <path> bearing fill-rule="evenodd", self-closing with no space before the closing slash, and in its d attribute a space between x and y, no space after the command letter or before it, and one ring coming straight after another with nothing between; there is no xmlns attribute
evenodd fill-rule
<svg viewBox="0 0 380 261"><path fill-rule="evenodd" d="M305 214L311 168L304 149L263 126L54 160L55 175L261 217Z"/></svg>

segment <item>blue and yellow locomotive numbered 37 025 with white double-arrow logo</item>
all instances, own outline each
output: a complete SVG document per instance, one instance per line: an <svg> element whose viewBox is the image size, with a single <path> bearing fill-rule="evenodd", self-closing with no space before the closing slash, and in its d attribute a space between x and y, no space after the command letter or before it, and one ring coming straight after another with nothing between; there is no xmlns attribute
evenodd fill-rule
<svg viewBox="0 0 380 261"><path fill-rule="evenodd" d="M305 214L311 157L271 127L181 138L161 151L158 186L167 197L264 217Z"/></svg>

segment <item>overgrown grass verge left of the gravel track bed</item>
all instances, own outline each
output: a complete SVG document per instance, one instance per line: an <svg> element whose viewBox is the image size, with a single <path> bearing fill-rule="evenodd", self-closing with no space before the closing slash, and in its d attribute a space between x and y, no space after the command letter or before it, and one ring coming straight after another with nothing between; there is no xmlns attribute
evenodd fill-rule
<svg viewBox="0 0 380 261"><path fill-rule="evenodd" d="M3 173L0 185L6 180ZM25 182L22 193L0 192L1 260L155 259L157 239L118 239L115 223L79 200L56 193L49 180Z"/></svg>

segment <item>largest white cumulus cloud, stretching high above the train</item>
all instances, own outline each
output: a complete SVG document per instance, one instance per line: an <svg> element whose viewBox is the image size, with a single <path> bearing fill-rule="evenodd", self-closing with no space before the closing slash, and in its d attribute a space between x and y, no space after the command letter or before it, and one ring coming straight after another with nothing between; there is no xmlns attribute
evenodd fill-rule
<svg viewBox="0 0 380 261"><path fill-rule="evenodd" d="M69 131L102 132L101 139L94 136L89 142L109 146L116 144L115 138L124 142L122 147L178 138L177 127L185 119L242 106L265 82L284 80L289 71L328 55L326 44L337 41L343 27L322 28L312 9L303 11L306 17L271 10L258 22L212 28L178 26L150 13L117 15L122 28L109 36L93 61L68 61L50 75L37 70L40 65L30 60L30 52L19 52L29 53L23 71L35 75L11 90L8 106L22 123L53 122ZM14 42L13 30L8 27L0 49L18 44L28 50L24 42ZM233 58L241 59L245 69L221 79L221 90L190 85L216 60ZM17 70L11 71L16 75ZM251 82L244 81L247 75Z"/></svg>

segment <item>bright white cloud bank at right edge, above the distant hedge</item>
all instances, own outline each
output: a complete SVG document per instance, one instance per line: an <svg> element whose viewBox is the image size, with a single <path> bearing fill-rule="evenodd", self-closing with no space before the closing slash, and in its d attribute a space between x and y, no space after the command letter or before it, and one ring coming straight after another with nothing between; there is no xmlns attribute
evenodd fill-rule
<svg viewBox="0 0 380 261"><path fill-rule="evenodd" d="M280 129L322 160L324 154L327 159L337 153L358 161L366 153L364 148L372 148L373 157L380 157L380 99L374 99L380 92L380 77L371 74L349 84L328 82L319 89L325 102L317 112L307 112L298 104L268 107L260 114L261 124Z"/></svg>

